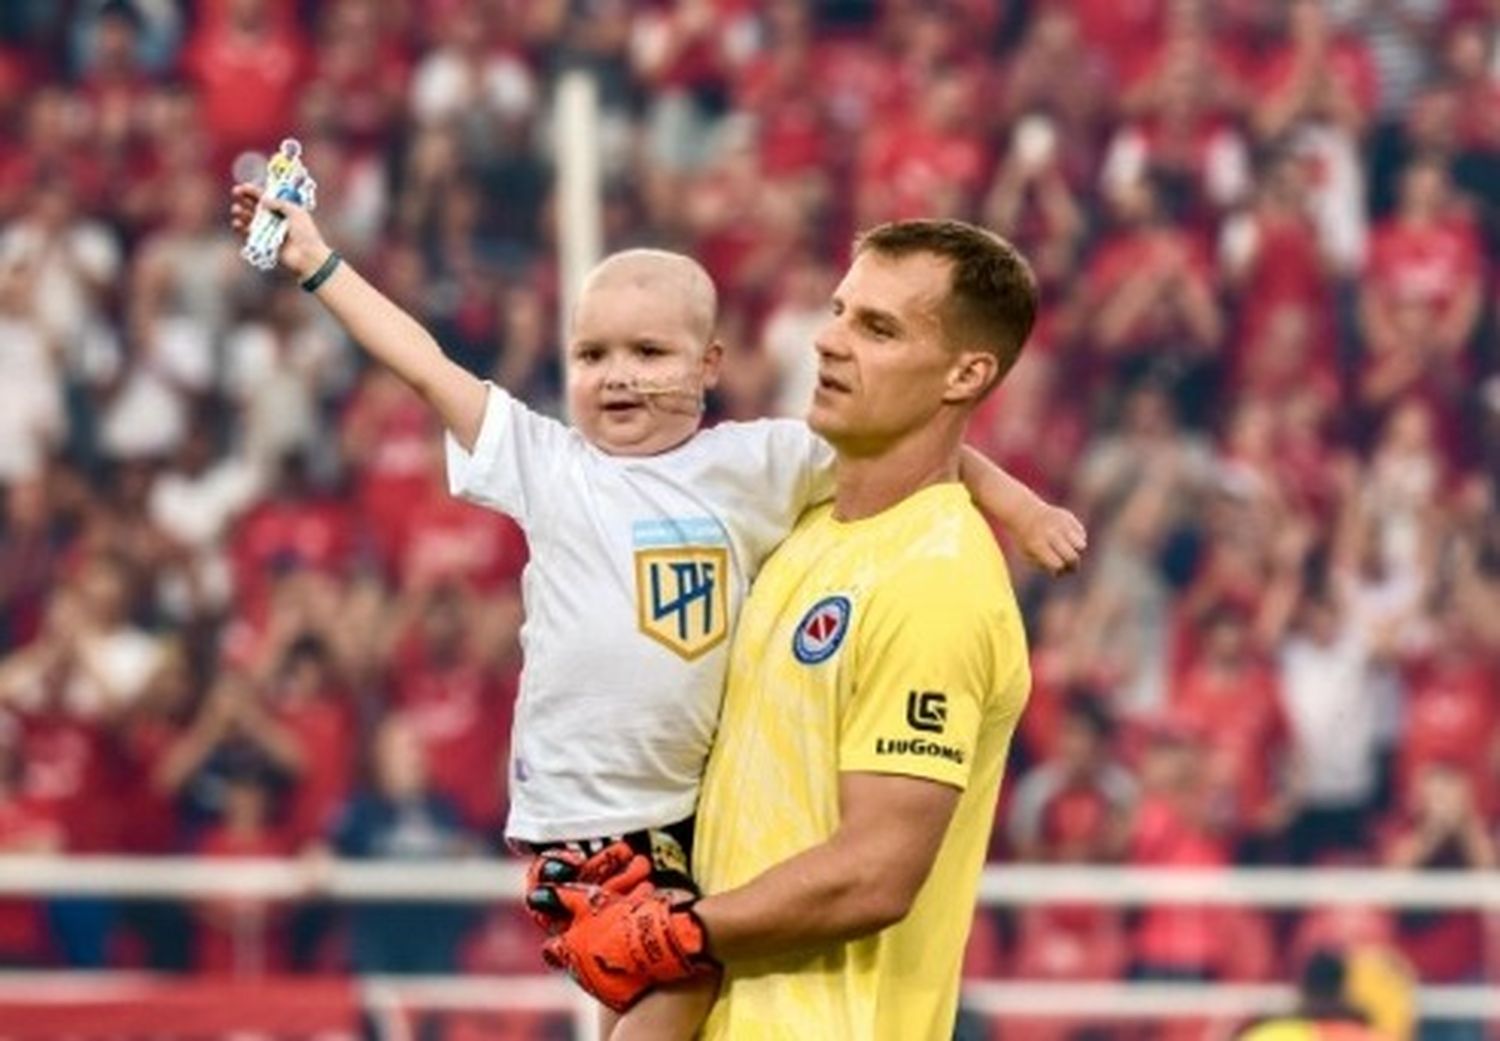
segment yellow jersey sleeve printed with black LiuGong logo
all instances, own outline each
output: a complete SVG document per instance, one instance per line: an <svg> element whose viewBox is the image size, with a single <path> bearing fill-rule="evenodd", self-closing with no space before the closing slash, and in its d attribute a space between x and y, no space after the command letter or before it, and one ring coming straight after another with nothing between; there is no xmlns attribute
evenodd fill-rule
<svg viewBox="0 0 1500 1041"><path fill-rule="evenodd" d="M854 633L842 772L968 786L1004 638L999 610L974 586L962 561L924 560L872 594Z"/></svg>

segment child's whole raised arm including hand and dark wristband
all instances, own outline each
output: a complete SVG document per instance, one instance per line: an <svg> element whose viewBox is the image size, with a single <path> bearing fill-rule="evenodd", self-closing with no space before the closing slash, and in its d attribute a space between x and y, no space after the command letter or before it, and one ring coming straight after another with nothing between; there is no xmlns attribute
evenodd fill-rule
<svg viewBox="0 0 1500 1041"><path fill-rule="evenodd" d="M318 279L314 292L345 332L381 364L426 399L465 452L474 450L484 418L484 384L446 354L417 320L366 282L346 261L334 260L312 216L285 200L262 200L254 184L236 184L231 206L234 231L243 236L264 206L286 219L282 267L298 282ZM318 278L318 276L322 278Z"/></svg>

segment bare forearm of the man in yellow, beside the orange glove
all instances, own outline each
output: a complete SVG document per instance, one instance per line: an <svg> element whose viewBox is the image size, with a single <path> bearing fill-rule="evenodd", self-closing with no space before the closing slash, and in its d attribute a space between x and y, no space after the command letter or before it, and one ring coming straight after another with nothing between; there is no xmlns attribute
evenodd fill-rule
<svg viewBox="0 0 1500 1041"><path fill-rule="evenodd" d="M908 902L830 843L777 864L746 885L694 906L720 962L789 954L876 933Z"/></svg>

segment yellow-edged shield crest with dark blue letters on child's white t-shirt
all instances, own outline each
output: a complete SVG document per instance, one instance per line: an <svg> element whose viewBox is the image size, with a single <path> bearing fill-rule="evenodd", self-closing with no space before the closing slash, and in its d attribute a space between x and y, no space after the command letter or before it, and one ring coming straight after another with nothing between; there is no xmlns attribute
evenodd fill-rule
<svg viewBox="0 0 1500 1041"><path fill-rule="evenodd" d="M686 662L718 646L729 634L729 550L638 549L636 622Z"/></svg>

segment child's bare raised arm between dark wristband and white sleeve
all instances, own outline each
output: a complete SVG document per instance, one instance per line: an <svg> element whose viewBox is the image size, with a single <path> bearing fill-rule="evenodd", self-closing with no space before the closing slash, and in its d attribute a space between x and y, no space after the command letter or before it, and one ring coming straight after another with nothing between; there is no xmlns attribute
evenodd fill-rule
<svg viewBox="0 0 1500 1041"><path fill-rule="evenodd" d="M370 357L436 410L465 450L474 448L484 418L484 384L478 378L448 358L417 320L346 261L318 286L316 297Z"/></svg>

